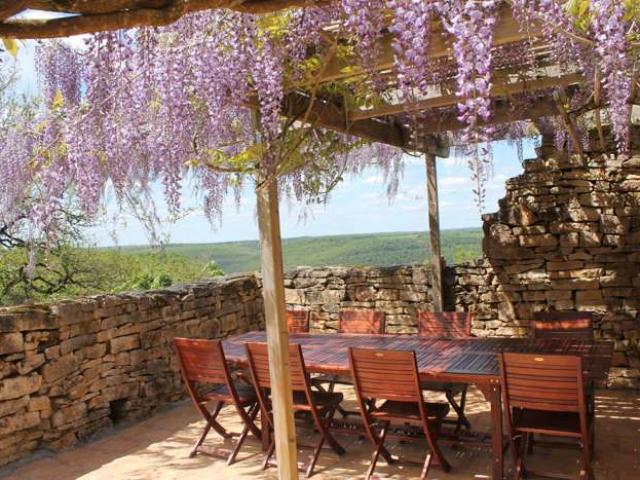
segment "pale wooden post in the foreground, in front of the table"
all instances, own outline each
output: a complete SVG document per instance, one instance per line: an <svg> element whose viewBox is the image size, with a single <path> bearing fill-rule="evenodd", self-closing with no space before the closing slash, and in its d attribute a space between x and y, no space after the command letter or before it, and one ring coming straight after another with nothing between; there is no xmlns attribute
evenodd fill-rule
<svg viewBox="0 0 640 480"><path fill-rule="evenodd" d="M271 399L280 480L297 480L296 431L289 372L289 331L284 301L284 273L278 184L271 178L258 185L258 226L262 265L262 296L267 324Z"/></svg>

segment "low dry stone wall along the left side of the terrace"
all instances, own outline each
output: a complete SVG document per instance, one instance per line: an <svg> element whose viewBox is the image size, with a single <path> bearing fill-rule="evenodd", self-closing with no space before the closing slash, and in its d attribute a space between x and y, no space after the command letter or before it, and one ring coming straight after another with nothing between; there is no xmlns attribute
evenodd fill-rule
<svg viewBox="0 0 640 480"><path fill-rule="evenodd" d="M263 327L253 275L0 310L0 466L182 398L173 337Z"/></svg>

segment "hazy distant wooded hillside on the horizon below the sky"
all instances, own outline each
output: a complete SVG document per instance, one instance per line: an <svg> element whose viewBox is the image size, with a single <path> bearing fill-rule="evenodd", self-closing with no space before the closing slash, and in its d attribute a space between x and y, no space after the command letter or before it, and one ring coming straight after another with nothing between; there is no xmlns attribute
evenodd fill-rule
<svg viewBox="0 0 640 480"><path fill-rule="evenodd" d="M370 233L326 237L298 237L283 240L285 269L299 265L418 264L428 260L429 242L425 232ZM215 262L227 273L259 269L257 241L227 243L171 244L171 253ZM443 254L448 263L477 258L482 252L482 230L467 228L442 231ZM150 247L122 247L123 253L141 253Z"/></svg>

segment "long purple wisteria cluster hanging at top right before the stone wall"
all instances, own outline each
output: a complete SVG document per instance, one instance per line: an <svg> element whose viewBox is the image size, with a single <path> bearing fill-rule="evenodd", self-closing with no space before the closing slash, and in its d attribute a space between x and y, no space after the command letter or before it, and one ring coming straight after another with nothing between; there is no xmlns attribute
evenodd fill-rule
<svg viewBox="0 0 640 480"><path fill-rule="evenodd" d="M627 103L631 92L631 78L628 71L624 3L617 0L592 0L589 8L593 14L592 29L609 117L618 150L624 152L629 144L631 118L631 107Z"/></svg>

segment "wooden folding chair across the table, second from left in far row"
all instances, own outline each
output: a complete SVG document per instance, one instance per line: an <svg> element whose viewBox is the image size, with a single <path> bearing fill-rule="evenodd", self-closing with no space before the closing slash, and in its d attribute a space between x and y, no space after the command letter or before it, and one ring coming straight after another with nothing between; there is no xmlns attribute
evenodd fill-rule
<svg viewBox="0 0 640 480"><path fill-rule="evenodd" d="M378 335L384 333L384 312L378 310L341 310L338 320L338 333ZM324 384L327 384L326 388ZM324 391L333 392L336 385L353 385L349 375L318 375L313 385ZM338 407L342 417L357 415L358 412Z"/></svg>

